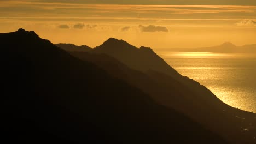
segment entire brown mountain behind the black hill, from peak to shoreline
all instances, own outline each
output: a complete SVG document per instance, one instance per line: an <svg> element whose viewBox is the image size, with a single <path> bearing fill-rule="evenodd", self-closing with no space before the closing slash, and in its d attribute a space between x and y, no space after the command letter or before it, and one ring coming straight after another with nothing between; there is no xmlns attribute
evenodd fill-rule
<svg viewBox="0 0 256 144"><path fill-rule="evenodd" d="M232 143L255 142L254 113L224 104L206 87L179 75L152 49L138 49L123 40L110 38L89 53L71 54L97 64L110 75L138 87L159 103L185 113Z"/></svg>

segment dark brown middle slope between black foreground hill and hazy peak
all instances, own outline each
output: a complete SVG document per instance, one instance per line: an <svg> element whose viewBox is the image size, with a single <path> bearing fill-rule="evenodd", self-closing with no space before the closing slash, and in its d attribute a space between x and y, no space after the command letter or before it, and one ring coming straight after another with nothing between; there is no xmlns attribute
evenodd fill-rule
<svg viewBox="0 0 256 144"><path fill-rule="evenodd" d="M126 67L123 63L105 54L86 52L71 52L71 54L84 61L97 64L114 77L140 88L159 103L187 113L232 143L252 143L254 141L255 125L253 123L255 122L255 115L234 109L221 101L216 103L215 96L206 89L201 90L206 91L207 96L201 97L168 75L156 71L148 71L146 75ZM212 101L212 103L207 101ZM245 128L250 130L243 131ZM241 131L243 132L241 133Z"/></svg>

